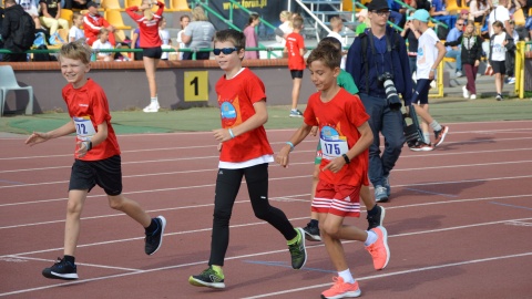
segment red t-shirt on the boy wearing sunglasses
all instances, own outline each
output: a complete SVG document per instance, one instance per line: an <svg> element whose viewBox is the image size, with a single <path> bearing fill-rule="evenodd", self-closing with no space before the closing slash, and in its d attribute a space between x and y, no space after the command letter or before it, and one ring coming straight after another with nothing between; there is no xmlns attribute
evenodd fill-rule
<svg viewBox="0 0 532 299"><path fill-rule="evenodd" d="M254 103L266 101L263 81L248 69L244 69L233 79L222 76L216 83L222 127L234 127L255 114ZM264 126L248 131L224 142L219 161L239 163L264 155L273 155Z"/></svg>

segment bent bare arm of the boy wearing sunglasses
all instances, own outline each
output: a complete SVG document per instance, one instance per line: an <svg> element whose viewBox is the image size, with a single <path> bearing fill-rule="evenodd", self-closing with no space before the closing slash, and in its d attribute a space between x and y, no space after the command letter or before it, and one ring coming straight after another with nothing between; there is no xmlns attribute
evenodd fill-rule
<svg viewBox="0 0 532 299"><path fill-rule="evenodd" d="M253 104L253 107L255 109L255 114L252 117L247 118L242 124L231 128L213 130L214 138L217 140L218 142L226 142L248 131L255 130L264 125L268 121L268 111L266 109L266 101L264 100L258 101Z"/></svg>

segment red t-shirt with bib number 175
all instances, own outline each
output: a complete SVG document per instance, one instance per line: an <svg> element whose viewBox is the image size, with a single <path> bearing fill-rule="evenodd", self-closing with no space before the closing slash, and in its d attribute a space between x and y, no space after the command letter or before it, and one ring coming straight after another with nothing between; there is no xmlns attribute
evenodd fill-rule
<svg viewBox="0 0 532 299"><path fill-rule="evenodd" d="M305 110L305 123L319 126L321 144L321 165L325 167L331 159L347 153L360 138L359 126L369 120L369 115L358 95L352 95L344 89L332 100L324 103L317 92L308 99ZM367 176L369 151L354 157L338 173L320 172L319 179L335 185L358 186Z"/></svg>

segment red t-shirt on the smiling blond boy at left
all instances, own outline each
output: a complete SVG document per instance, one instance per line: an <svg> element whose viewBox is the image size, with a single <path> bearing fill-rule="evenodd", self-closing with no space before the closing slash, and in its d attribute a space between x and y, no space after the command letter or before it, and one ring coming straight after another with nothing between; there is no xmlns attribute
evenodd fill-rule
<svg viewBox="0 0 532 299"><path fill-rule="evenodd" d="M74 89L69 83L63 87L62 94L64 102L66 102L70 117L75 123L76 143L95 134L99 124L108 123L108 138L99 145L93 145L92 150L79 159L99 161L120 155L119 142L111 125L108 97L103 89L89 79L85 85L80 89ZM78 151L78 146L75 146L75 151Z"/></svg>

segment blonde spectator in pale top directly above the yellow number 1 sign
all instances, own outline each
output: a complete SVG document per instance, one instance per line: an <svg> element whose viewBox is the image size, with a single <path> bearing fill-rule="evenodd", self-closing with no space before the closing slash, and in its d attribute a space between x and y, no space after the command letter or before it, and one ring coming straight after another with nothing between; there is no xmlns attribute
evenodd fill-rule
<svg viewBox="0 0 532 299"><path fill-rule="evenodd" d="M192 22L185 28L181 34L182 41L186 49L200 50L209 49L213 44L213 38L216 30L208 21L203 8L195 7L192 10ZM208 60L211 52L196 52L196 60ZM193 52L183 53L183 60L192 60Z"/></svg>

